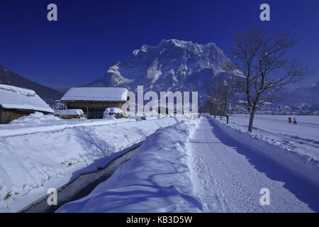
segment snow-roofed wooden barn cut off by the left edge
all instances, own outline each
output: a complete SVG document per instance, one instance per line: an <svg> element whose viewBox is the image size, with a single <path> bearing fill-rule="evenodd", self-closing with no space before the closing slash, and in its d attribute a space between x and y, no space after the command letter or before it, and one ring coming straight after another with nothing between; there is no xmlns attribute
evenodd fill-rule
<svg viewBox="0 0 319 227"><path fill-rule="evenodd" d="M54 113L33 90L0 84L0 123L9 123L35 111Z"/></svg>

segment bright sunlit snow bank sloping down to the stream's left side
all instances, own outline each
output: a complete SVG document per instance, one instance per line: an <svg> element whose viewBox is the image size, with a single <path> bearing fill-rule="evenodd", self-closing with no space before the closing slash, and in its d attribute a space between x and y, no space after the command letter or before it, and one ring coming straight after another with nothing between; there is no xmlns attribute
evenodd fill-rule
<svg viewBox="0 0 319 227"><path fill-rule="evenodd" d="M26 118L19 121L23 119ZM10 135L10 130L4 130L4 136L0 135L0 211L19 211L45 195L48 188L67 184L77 177L75 172L78 175L101 158L145 140L158 128L182 120L169 117L147 121L86 120L68 126L71 120L59 119L55 122L62 124L54 126L49 121L40 130L31 128L31 133L20 126L18 130L23 134ZM28 123L23 126L27 127Z"/></svg>

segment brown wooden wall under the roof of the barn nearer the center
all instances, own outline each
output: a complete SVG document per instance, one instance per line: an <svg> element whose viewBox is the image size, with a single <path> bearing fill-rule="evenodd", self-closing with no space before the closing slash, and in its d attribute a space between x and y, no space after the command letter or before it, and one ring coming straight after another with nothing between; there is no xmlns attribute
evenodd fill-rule
<svg viewBox="0 0 319 227"><path fill-rule="evenodd" d="M111 101L68 101L67 109L82 109L88 119L103 118L103 111L108 107L122 108L123 103ZM89 113L87 113L89 110Z"/></svg>

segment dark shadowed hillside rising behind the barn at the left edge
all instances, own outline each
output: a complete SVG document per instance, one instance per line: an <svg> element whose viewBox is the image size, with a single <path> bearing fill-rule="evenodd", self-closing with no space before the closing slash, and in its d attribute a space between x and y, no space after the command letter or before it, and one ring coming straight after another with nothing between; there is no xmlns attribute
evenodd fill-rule
<svg viewBox="0 0 319 227"><path fill-rule="evenodd" d="M55 100L62 97L61 92L57 92L55 89L30 81L30 79L26 79L21 75L16 74L16 72L12 72L6 67L2 67L1 65L0 84L32 89L50 106L55 106Z"/></svg>

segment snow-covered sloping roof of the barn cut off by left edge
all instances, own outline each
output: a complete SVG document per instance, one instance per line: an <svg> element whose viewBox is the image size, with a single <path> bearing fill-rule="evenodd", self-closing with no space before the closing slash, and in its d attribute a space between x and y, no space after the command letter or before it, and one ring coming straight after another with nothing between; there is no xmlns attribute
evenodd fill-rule
<svg viewBox="0 0 319 227"><path fill-rule="evenodd" d="M54 113L33 90L0 84L0 106L4 109L21 109Z"/></svg>

